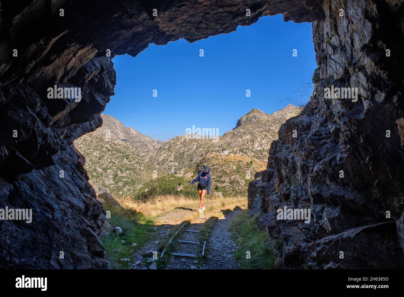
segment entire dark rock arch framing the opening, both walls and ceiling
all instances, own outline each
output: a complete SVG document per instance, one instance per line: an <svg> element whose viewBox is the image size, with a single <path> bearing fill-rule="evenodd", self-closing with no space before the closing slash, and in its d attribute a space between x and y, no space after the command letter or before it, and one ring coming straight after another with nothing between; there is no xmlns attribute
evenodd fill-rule
<svg viewBox="0 0 404 297"><path fill-rule="evenodd" d="M284 241L285 265L359 267L368 263L359 254L369 267L402 264L402 1L36 0L0 2L0 207L33 210L31 224L0 221L0 268L109 267L99 240L105 214L72 146L101 125L113 94L109 50L135 56L149 43L192 42L278 13L315 21L322 81L250 185L267 213L261 222ZM358 102L323 99L330 84L357 86ZM81 100L49 99L55 85L81 88ZM310 206L312 224L273 221L280 203Z"/></svg>

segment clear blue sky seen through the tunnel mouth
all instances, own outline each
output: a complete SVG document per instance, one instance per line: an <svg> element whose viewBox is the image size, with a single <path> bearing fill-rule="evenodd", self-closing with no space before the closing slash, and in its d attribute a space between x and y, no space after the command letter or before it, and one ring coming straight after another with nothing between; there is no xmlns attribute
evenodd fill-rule
<svg viewBox="0 0 404 297"><path fill-rule="evenodd" d="M113 62L117 84L104 113L163 141L193 125L223 135L253 108L272 113L290 103L281 98L308 101L305 83L316 68L311 23L285 23L281 15L193 43L150 44Z"/></svg>

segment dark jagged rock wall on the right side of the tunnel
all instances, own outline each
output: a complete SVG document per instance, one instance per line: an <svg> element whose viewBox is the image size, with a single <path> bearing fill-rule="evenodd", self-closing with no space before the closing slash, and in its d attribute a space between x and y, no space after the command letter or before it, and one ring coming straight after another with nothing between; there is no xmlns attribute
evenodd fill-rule
<svg viewBox="0 0 404 297"><path fill-rule="evenodd" d="M249 186L286 267L403 268L402 3L326 0L313 23L322 80ZM325 99L331 85L358 88L358 101ZM276 219L284 206L310 208L311 222Z"/></svg>

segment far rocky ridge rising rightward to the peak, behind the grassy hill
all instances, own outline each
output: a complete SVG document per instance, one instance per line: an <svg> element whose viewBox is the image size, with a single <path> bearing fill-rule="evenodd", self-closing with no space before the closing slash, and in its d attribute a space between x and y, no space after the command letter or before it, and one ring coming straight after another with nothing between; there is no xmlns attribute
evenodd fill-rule
<svg viewBox="0 0 404 297"><path fill-rule="evenodd" d="M150 157L151 165L164 173L185 170L208 152L240 155L267 162L272 141L278 139L278 130L288 118L299 114L300 108L288 105L272 114L252 109L242 116L236 127L218 140L190 139L181 135L168 139Z"/></svg>

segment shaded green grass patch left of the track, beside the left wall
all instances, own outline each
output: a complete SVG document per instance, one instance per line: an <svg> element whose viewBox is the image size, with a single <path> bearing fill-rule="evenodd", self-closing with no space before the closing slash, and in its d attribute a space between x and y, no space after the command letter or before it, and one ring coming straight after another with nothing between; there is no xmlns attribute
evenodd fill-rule
<svg viewBox="0 0 404 297"><path fill-rule="evenodd" d="M108 261L111 263L112 269L130 268L129 262L133 263L133 252L140 249L147 240L154 236L151 233L151 230L154 230L151 228L154 223L142 213L115 206L107 201L103 203L103 209L111 212L111 218L108 221L112 229L114 227L122 228L122 234L110 232L101 238L109 256ZM122 243L122 240L125 240L125 243ZM132 243L137 245L132 246ZM120 261L125 258L130 261Z"/></svg>

